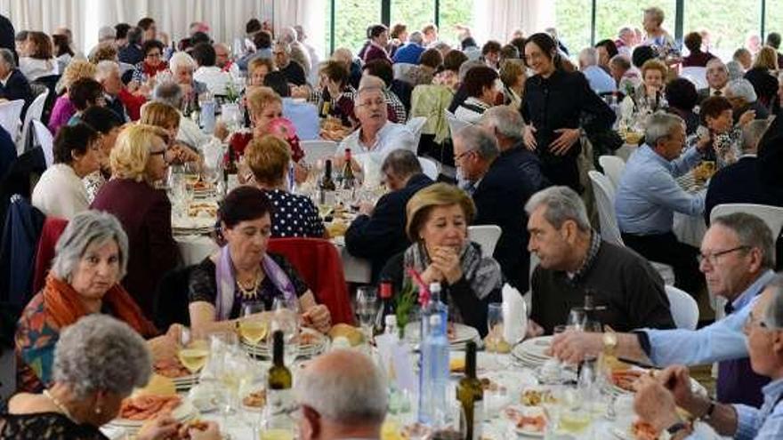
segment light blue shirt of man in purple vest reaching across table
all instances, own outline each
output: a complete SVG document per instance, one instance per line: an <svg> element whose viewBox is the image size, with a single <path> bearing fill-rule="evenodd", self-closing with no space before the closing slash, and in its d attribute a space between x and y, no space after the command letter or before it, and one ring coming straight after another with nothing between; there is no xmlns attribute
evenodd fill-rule
<svg viewBox="0 0 783 440"><path fill-rule="evenodd" d="M698 330L644 329L650 339L650 360L658 366L711 364L747 357L742 327L764 286L775 273L767 270L739 294L734 312Z"/></svg>

